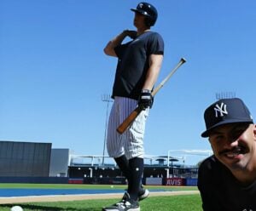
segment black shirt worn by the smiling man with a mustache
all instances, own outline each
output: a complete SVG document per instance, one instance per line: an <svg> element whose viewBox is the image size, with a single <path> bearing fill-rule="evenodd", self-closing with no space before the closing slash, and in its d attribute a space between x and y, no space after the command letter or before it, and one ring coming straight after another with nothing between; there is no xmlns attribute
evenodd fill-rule
<svg viewBox="0 0 256 211"><path fill-rule="evenodd" d="M256 181L241 185L214 156L201 163L198 188L205 211L256 211Z"/></svg>

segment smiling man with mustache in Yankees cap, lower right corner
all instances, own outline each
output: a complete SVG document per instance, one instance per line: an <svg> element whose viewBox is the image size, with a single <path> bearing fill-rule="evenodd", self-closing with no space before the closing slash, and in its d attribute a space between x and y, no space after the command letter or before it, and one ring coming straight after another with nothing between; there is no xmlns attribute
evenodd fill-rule
<svg viewBox="0 0 256 211"><path fill-rule="evenodd" d="M213 156L201 163L198 188L205 211L256 210L256 126L238 98L218 100L204 113Z"/></svg>

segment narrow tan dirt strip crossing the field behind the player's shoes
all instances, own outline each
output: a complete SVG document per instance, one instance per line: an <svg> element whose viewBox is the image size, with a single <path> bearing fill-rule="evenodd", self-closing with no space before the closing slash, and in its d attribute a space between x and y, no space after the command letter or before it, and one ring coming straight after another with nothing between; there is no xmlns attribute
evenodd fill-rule
<svg viewBox="0 0 256 211"><path fill-rule="evenodd" d="M199 194L199 191L158 191L150 192L150 197L177 196ZM35 197L0 197L0 204L21 203L21 202L63 202L90 199L109 199L122 197L123 193L104 194L81 194L81 195L55 195L55 196L35 196Z"/></svg>

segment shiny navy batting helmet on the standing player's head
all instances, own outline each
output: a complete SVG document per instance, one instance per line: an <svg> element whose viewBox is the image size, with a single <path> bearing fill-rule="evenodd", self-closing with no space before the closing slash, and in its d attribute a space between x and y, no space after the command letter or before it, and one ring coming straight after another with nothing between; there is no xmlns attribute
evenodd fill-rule
<svg viewBox="0 0 256 211"><path fill-rule="evenodd" d="M131 11L145 15L147 26L154 26L157 20L157 10L150 3L138 3L137 9L131 9Z"/></svg>

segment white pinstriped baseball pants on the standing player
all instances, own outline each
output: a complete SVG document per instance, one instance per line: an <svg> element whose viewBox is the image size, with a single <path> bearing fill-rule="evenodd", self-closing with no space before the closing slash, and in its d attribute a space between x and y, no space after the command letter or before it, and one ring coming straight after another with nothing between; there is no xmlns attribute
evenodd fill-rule
<svg viewBox="0 0 256 211"><path fill-rule="evenodd" d="M123 123L131 111L137 107L137 100L124 97L115 97L108 120L107 149L109 157L121 157L127 159L144 156L143 137L148 111L142 111L131 126L123 134L116 131L120 123Z"/></svg>

